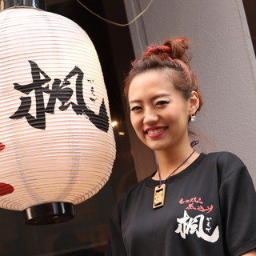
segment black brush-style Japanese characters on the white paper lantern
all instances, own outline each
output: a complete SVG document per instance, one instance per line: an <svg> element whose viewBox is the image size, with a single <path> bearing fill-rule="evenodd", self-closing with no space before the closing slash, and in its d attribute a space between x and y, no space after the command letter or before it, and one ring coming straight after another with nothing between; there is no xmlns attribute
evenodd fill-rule
<svg viewBox="0 0 256 256"><path fill-rule="evenodd" d="M46 113L54 114L55 104L58 99L58 101L61 102L61 106L58 107L59 110L65 111L71 105L75 114L85 115L90 120L90 122L92 122L94 126L96 126L99 130L102 130L104 132L107 132L109 130L109 117L106 112L104 98L102 99L98 114L95 114L94 111L90 110L90 108L86 105L86 102L84 101L82 86L84 73L82 72L82 70L80 70L78 66L74 66L74 69L66 75L66 78L63 80L63 82L58 78L54 78L52 88L50 89L49 82L51 81L51 78L39 68L36 62L29 62L33 82L24 86L19 85L18 83L14 83L14 89L26 95L30 95L30 93L34 91L36 115L34 117L32 114L30 114L31 97L22 96L20 97L21 104L18 107L18 110L10 116L11 119L26 118L30 126L37 129L45 130ZM76 76L76 102L71 102L70 98L74 94L74 90L72 90L68 86L70 86L70 78L74 76ZM94 80L89 79L87 79L87 81L94 82ZM93 90L94 92L94 87L92 87L91 85L90 90ZM46 106L44 102L44 94L50 94ZM93 98L93 102L95 102L96 100L97 98Z"/></svg>

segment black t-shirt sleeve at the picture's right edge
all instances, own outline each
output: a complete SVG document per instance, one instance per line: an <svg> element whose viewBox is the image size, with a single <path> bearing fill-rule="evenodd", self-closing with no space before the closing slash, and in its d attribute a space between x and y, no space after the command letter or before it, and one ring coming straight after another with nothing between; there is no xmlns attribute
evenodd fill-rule
<svg viewBox="0 0 256 256"><path fill-rule="evenodd" d="M230 154L222 164L219 197L227 249L232 256L256 248L256 194L246 166Z"/></svg>

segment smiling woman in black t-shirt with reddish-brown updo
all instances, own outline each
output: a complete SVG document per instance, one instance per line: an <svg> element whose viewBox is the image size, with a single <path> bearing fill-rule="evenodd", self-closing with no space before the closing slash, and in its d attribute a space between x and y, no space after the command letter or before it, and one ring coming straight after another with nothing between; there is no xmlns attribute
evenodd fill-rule
<svg viewBox="0 0 256 256"><path fill-rule="evenodd" d="M125 82L130 121L158 170L123 194L110 216L106 256L255 256L256 197L244 163L193 148L202 106L187 38L150 46ZM152 207L153 205L153 207Z"/></svg>

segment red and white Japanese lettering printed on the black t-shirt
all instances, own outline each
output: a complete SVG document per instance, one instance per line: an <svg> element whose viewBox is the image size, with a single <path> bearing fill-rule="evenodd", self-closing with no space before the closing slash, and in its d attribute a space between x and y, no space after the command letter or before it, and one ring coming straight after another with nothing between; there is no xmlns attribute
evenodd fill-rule
<svg viewBox="0 0 256 256"><path fill-rule="evenodd" d="M177 218L178 228L175 233L180 234L186 239L188 235L194 235L202 238L206 242L217 242L219 238L219 228L216 226L213 230L213 217L210 213L214 210L214 206L205 206L202 198L190 198L184 200L181 198L179 204L185 206L183 216ZM199 214L195 217L190 217L191 211L197 211Z"/></svg>

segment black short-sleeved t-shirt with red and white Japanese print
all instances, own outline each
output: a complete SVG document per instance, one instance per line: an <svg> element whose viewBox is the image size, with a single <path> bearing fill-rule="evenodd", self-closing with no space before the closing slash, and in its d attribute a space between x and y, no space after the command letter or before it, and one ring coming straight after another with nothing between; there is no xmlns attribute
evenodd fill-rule
<svg viewBox="0 0 256 256"><path fill-rule="evenodd" d="M158 184L149 177L123 194L106 256L238 256L256 248L255 189L234 154L200 154L168 178L165 205L153 209Z"/></svg>

